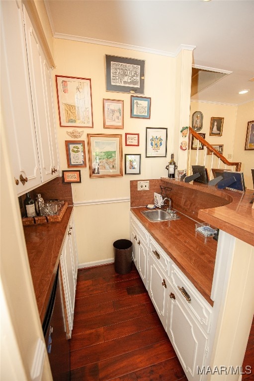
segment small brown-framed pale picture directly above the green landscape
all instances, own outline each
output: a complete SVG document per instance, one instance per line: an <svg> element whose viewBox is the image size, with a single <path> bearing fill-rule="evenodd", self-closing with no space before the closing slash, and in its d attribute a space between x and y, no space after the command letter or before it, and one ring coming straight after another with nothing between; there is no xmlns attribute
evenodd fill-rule
<svg viewBox="0 0 254 381"><path fill-rule="evenodd" d="M103 128L123 128L123 101L103 99Z"/></svg>

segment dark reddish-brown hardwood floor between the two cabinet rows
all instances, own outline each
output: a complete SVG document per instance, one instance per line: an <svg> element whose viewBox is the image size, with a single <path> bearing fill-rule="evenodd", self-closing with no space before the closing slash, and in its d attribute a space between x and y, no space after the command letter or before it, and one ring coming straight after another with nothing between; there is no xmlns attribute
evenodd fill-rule
<svg viewBox="0 0 254 381"><path fill-rule="evenodd" d="M138 271L78 271L71 381L187 380Z"/></svg>

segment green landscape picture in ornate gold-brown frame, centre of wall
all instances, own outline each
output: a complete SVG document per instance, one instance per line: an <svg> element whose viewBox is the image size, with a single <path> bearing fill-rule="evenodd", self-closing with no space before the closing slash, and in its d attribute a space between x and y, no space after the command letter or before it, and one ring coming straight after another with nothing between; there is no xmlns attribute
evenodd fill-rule
<svg viewBox="0 0 254 381"><path fill-rule="evenodd" d="M123 176L122 135L87 133L90 177Z"/></svg>

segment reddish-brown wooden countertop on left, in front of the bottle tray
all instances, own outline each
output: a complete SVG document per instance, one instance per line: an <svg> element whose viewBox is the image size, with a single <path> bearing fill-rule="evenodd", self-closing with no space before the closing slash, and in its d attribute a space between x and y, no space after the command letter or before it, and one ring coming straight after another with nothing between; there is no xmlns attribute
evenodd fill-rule
<svg viewBox="0 0 254 381"><path fill-rule="evenodd" d="M72 211L73 206L68 206L60 222L23 227L41 322L46 313Z"/></svg>

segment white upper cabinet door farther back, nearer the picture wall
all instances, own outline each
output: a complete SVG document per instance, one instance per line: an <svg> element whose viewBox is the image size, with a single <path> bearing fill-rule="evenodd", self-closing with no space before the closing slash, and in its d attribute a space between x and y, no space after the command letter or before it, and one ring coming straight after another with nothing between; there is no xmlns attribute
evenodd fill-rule
<svg viewBox="0 0 254 381"><path fill-rule="evenodd" d="M42 182L59 175L51 69L23 6L27 59Z"/></svg>

